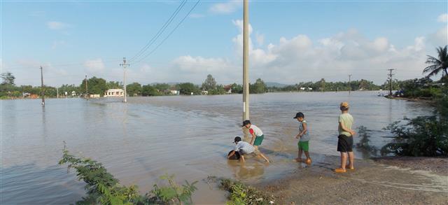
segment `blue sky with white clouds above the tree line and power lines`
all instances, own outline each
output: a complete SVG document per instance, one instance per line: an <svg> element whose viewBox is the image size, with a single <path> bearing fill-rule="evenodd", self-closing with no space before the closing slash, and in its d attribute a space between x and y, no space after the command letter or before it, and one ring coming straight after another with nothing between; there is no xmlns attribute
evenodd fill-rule
<svg viewBox="0 0 448 205"><path fill-rule="evenodd" d="M155 48L197 1L187 1ZM420 78L426 55L447 45L447 1L249 1L250 78ZM181 1L1 1L1 72L16 83L123 80L120 59L137 55ZM241 1L200 1L127 82L241 83ZM144 54L144 56L146 55Z"/></svg>

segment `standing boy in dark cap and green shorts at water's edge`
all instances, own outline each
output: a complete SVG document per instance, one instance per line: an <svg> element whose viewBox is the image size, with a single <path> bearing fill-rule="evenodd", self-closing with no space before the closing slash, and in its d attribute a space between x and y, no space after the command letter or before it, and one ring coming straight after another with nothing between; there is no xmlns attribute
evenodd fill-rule
<svg viewBox="0 0 448 205"><path fill-rule="evenodd" d="M297 119L299 121L299 133L295 136L295 138L299 139L300 141L297 143L297 146L299 147L298 157L295 159L296 162L302 162L302 150L305 153L305 156L307 156L307 160L305 160L305 163L311 164L311 157L309 157L309 134L307 129L307 121L304 120L305 115L303 113L296 113L294 119Z"/></svg>

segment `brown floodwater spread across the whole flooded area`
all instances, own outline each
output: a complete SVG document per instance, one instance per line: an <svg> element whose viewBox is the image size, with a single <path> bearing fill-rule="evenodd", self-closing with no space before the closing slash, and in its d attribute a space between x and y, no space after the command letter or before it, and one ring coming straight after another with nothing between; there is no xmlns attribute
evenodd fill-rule
<svg viewBox="0 0 448 205"><path fill-rule="evenodd" d="M403 116L426 115L426 104L377 97L377 92L293 92L251 95L251 121L265 132L260 150L272 163L248 159L228 162L235 136L241 136L241 94L219 96L131 97L121 99L46 99L1 101L0 204L69 204L84 196L83 182L57 162L66 142L78 156L102 162L120 183L142 192L160 176L182 183L200 181L196 204L223 204L224 192L207 176L268 181L300 169L297 121L302 111L310 130L314 162L338 155L339 103L349 101L354 127L370 130L371 145L381 148L391 134L383 130ZM358 141L355 138L355 143ZM356 151L356 157L367 157Z"/></svg>

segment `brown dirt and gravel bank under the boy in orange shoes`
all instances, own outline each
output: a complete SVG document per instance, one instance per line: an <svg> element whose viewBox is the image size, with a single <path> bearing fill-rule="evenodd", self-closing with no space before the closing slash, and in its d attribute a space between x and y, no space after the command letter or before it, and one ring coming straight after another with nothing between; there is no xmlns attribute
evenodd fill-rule
<svg viewBox="0 0 448 205"><path fill-rule="evenodd" d="M254 186L276 204L448 204L448 159L383 157L356 160L335 174L339 157L326 157L292 174Z"/></svg>

